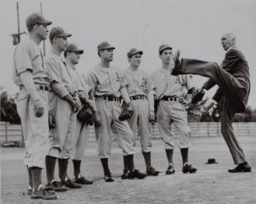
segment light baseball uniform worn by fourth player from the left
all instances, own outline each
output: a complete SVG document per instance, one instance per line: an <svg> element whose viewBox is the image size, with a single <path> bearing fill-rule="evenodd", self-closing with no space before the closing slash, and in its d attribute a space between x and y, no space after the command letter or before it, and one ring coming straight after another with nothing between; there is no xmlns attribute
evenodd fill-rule
<svg viewBox="0 0 256 204"><path fill-rule="evenodd" d="M121 70L114 66L104 68L98 65L89 71L88 84L95 93L101 123L95 128L99 158L110 156L112 128L117 131L114 135L124 155L134 154L133 134L128 121L118 120L121 113L120 90L127 85Z"/></svg>

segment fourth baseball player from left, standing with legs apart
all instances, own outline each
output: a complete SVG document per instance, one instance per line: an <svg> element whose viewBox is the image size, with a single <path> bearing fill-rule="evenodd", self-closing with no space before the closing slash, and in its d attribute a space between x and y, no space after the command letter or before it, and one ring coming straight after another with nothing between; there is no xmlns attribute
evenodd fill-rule
<svg viewBox="0 0 256 204"><path fill-rule="evenodd" d="M100 63L88 73L88 84L92 87L96 97L96 140L98 141L98 156L103 165L105 181L114 181L108 166L108 158L110 157L111 146L111 128L117 131L117 143L123 150L124 157L128 161L128 177L144 178L146 174L142 174L139 170L134 169L134 146L133 134L128 125L128 121L118 120L121 113L121 97L128 106L132 106L132 102L128 96L124 75L121 70L110 65L113 61L114 47L108 42L103 41L98 45L98 55Z"/></svg>

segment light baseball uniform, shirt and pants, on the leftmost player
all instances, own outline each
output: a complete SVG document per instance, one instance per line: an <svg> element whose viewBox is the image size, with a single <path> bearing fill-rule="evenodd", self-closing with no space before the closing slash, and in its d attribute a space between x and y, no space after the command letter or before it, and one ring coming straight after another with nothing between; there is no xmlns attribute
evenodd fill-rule
<svg viewBox="0 0 256 204"><path fill-rule="evenodd" d="M44 114L34 115L34 102L20 80L20 73L31 70L34 85L43 102ZM20 116L26 146L24 164L28 167L45 166L45 155L49 149L49 77L41 49L31 39L17 45L14 52L13 81L20 86L17 111Z"/></svg>

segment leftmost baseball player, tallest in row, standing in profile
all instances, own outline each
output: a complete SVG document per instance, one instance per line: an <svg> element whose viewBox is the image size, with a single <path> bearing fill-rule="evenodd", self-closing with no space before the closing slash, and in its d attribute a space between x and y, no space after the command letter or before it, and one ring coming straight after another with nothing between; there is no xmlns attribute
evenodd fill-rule
<svg viewBox="0 0 256 204"><path fill-rule="evenodd" d="M41 183L41 169L45 166L48 148L49 77L39 45L47 38L52 22L39 13L27 16L27 41L14 51L13 81L20 86L17 111L21 119L25 141L24 164L29 177L28 195L32 199L56 199Z"/></svg>

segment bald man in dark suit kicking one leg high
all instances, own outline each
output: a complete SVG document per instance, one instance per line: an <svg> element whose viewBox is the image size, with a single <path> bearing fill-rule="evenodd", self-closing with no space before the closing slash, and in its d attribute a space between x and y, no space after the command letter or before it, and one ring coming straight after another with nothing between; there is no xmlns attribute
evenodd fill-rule
<svg viewBox="0 0 256 204"><path fill-rule="evenodd" d="M233 119L236 113L246 110L248 96L250 94L249 66L242 52L236 48L236 36L227 33L222 36L222 46L225 49L225 59L219 66L218 63L209 63L197 59L178 59L179 51L174 55L175 67L171 70L172 75L199 74L209 77L201 90L214 87L218 84L218 90L205 109L221 102L222 104L222 135L229 151L233 156L236 168L229 170L230 173L251 172L251 166L247 163L243 149L236 140L233 131Z"/></svg>

